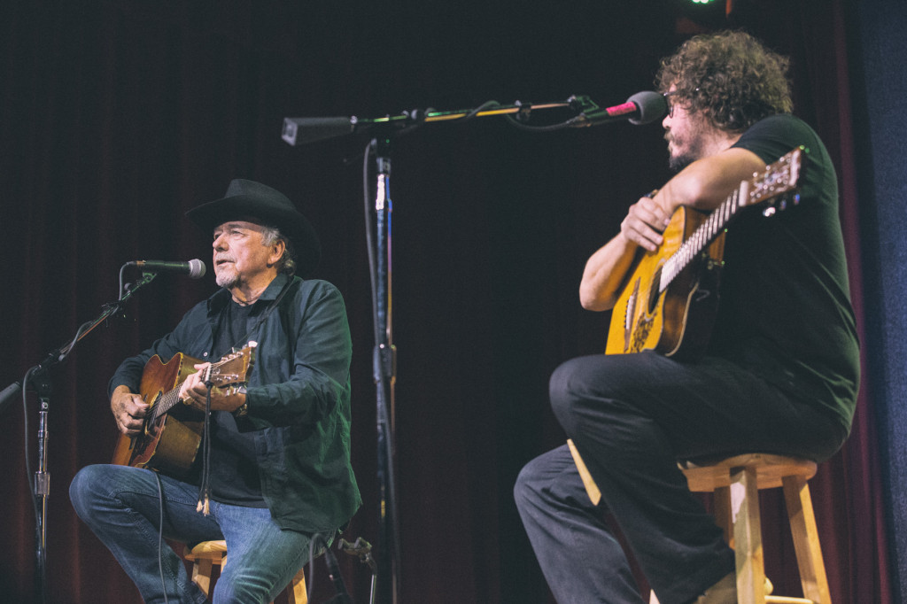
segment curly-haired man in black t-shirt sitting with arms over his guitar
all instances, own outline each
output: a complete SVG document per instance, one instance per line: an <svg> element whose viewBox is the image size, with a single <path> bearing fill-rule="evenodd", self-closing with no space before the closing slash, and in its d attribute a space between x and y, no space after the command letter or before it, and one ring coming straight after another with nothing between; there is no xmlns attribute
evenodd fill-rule
<svg viewBox="0 0 907 604"><path fill-rule="evenodd" d="M762 452L823 461L849 434L859 351L837 180L822 141L790 114L787 64L739 32L697 36L662 62L662 125L678 174L630 206L618 235L589 258L582 306L614 307L678 209L716 209L742 180L803 145L801 201L773 219L744 209L731 223L700 356L584 356L551 376L554 413L602 496L594 507L567 446L517 480L523 524L564 604L642 601L603 512L662 604L736 603L734 552L678 460Z"/></svg>

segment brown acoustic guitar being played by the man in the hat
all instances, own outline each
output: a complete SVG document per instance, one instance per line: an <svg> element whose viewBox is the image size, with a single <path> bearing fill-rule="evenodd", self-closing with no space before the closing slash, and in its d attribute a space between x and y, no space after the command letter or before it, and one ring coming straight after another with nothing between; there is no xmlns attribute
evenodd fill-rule
<svg viewBox="0 0 907 604"><path fill-rule="evenodd" d="M227 391L239 392L255 362L256 342L212 363L205 375L206 382ZM145 425L138 436L120 434L113 452L113 463L159 470L174 477L189 472L199 451L204 417L180 398L180 385L196 373L192 365L199 359L178 353L167 363L160 356L148 359L141 373L139 394L150 404Z"/></svg>

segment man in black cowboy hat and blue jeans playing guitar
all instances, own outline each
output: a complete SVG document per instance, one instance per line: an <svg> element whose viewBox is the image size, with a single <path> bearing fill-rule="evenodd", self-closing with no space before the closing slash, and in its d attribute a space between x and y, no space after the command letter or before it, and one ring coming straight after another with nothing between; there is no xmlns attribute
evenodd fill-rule
<svg viewBox="0 0 907 604"><path fill-rule="evenodd" d="M361 504L350 465L346 307L326 281L294 276L315 267L320 246L308 220L277 190L233 180L223 199L187 216L213 235L221 289L120 365L110 382L111 409L122 434L141 435L151 407L137 393L149 359L181 353L205 361L179 394L200 410L210 404L203 443L210 455L197 455L176 477L130 465L88 466L73 479L70 497L145 601L206 600L180 557L159 546L161 531L188 543L227 541L229 565L214 601L268 602L305 565L310 543L329 542ZM253 340L248 385L209 392L207 362Z"/></svg>

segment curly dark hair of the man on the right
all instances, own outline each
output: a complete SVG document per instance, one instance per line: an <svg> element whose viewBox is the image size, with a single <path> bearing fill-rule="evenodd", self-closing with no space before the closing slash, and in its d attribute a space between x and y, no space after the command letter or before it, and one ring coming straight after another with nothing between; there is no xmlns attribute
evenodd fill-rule
<svg viewBox="0 0 907 604"><path fill-rule="evenodd" d="M791 112L789 64L750 34L704 34L663 59L655 83L660 93L673 87L671 102L702 112L718 129L743 132L764 117Z"/></svg>

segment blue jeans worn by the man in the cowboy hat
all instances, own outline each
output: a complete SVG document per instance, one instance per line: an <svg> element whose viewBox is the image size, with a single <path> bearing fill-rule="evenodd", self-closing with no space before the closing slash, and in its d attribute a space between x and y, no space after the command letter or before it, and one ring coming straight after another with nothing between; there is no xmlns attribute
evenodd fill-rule
<svg viewBox="0 0 907 604"><path fill-rule="evenodd" d="M145 602L200 604L205 596L192 583L180 556L163 542L158 475L122 465L90 465L75 475L70 499L79 517L110 549L139 588ZM196 511L199 489L160 475L163 535L196 543L226 540L229 562L221 569L213 601L269 602L305 566L312 535L281 530L267 508L210 502L210 515Z"/></svg>

